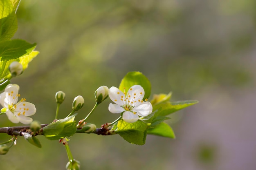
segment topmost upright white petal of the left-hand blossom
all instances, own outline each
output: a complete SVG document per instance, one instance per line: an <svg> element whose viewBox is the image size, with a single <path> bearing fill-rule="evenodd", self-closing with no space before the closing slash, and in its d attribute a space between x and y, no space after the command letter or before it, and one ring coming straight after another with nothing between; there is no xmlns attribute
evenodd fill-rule
<svg viewBox="0 0 256 170"><path fill-rule="evenodd" d="M5 101L8 104L16 104L18 102L18 94L19 94L18 86L13 84L8 84L4 89L4 92L8 93L7 99L5 99Z"/></svg>

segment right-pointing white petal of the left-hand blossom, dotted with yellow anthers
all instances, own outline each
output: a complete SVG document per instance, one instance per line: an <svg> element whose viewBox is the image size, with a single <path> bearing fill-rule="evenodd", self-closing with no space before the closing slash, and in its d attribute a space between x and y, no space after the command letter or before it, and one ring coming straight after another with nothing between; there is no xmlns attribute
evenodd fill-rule
<svg viewBox="0 0 256 170"><path fill-rule="evenodd" d="M25 115L25 116L31 116L36 113L36 107L34 104L29 102L20 102L16 105L16 109L14 111L14 114L16 116L18 115Z"/></svg>

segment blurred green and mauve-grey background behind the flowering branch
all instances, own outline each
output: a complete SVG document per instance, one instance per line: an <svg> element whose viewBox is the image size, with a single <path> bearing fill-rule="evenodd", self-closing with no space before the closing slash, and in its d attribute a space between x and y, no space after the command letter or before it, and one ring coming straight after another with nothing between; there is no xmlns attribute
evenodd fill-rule
<svg viewBox="0 0 256 170"><path fill-rule="evenodd" d="M94 106L94 91L119 86L128 71L144 73L152 94L200 101L166 121L176 139L148 135L137 146L119 135L75 134L69 144L81 170L255 170L255 9L255 0L22 0L14 38L36 42L40 54L12 83L42 124L54 119L57 91L66 93L59 117L74 97L85 98L79 120ZM88 121L115 120L109 103ZM0 123L14 126L6 116ZM65 169L62 144L38 139L41 149L19 137L0 169Z"/></svg>

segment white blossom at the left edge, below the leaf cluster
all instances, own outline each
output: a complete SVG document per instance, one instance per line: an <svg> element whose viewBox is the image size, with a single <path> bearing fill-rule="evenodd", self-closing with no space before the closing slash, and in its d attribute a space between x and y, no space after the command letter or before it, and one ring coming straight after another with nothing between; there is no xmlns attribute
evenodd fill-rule
<svg viewBox="0 0 256 170"><path fill-rule="evenodd" d="M6 108L6 115L13 123L30 124L33 119L28 117L36 113L34 104L25 102L21 99L18 102L19 86L17 84L8 84L3 93L0 94L0 104Z"/></svg>

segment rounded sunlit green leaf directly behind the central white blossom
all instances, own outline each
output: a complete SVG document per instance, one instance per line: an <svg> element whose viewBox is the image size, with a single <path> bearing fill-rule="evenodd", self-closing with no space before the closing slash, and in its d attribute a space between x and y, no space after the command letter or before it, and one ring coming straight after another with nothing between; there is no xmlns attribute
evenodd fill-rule
<svg viewBox="0 0 256 170"><path fill-rule="evenodd" d="M133 85L141 85L144 88L144 91L145 91L144 99L146 99L150 96L151 84L150 84L148 78L145 75L143 75L142 73L140 73L138 71L133 71L133 72L127 73L124 76L124 78L122 79L122 81L119 85L119 89L121 91L124 91L124 88L125 88L126 91L128 91L128 89Z"/></svg>

